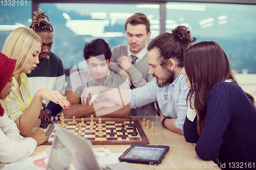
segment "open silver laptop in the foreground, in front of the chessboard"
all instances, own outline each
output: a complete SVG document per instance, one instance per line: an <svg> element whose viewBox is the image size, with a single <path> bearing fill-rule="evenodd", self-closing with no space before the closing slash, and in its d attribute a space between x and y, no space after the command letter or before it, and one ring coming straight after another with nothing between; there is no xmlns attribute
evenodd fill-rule
<svg viewBox="0 0 256 170"><path fill-rule="evenodd" d="M68 170L71 168L71 164L73 164L76 170L139 169L127 162L120 162L100 167L92 151L92 143L90 140L75 136L57 124L54 124L54 127L55 135L47 165L48 170Z"/></svg>

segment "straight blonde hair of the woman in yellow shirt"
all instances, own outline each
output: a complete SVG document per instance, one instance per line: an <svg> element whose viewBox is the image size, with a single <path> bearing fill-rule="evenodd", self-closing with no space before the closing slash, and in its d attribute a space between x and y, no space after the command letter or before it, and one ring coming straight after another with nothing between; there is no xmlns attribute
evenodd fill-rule
<svg viewBox="0 0 256 170"><path fill-rule="evenodd" d="M37 42L40 42L41 44L41 38L35 33L34 30L26 27L16 28L7 37L5 44L3 46L2 53L10 59L17 60L14 73L24 69L33 51L35 50ZM22 62L26 53L28 55L26 56L26 59L22 67L16 70L20 62Z"/></svg>

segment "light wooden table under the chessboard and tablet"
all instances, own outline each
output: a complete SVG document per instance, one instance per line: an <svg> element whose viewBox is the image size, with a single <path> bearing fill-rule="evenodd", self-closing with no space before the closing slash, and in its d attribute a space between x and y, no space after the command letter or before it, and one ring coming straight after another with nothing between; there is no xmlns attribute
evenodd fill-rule
<svg viewBox="0 0 256 170"><path fill-rule="evenodd" d="M146 129L142 126L143 118L150 120L150 123L154 122L155 133L150 132L150 129ZM127 120L129 118L101 118L102 120ZM76 118L80 121L81 118ZM90 120L90 117L84 118L84 120ZM94 121L97 121L98 117L94 117ZM195 152L195 144L186 142L184 135L169 131L164 128L160 122L158 116L133 116L133 120L139 120L150 144L152 145L168 145L170 150L165 155L160 165L146 165L133 163L134 166L139 169L220 169L213 161L204 161L200 159ZM38 129L40 126L40 119L38 118L32 132ZM49 127L49 126L48 126ZM42 128L40 128L42 129ZM47 129L42 129L47 132ZM111 153L123 153L130 145L93 145L93 148L110 149ZM50 151L51 145L39 145L36 147L35 152L31 157L39 155L45 151ZM3 167L3 163L0 163L0 168Z"/></svg>

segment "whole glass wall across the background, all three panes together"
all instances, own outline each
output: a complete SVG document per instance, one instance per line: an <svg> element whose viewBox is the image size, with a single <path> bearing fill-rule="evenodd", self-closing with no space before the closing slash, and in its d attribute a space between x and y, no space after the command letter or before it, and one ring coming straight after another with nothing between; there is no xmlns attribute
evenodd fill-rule
<svg viewBox="0 0 256 170"><path fill-rule="evenodd" d="M4 2L4 1L3 1ZM156 1L157 2L157 1ZM40 3L54 29L52 52L60 57L65 69L83 60L86 42L102 38L110 47L127 43L124 23L136 12L151 20L152 36L159 35L158 4L78 4ZM7 36L17 27L29 27L32 1L23 6L0 4L0 51ZM217 3L166 3L166 32L178 25L189 27L191 35L217 41L226 52L231 68L256 73L256 5Z"/></svg>

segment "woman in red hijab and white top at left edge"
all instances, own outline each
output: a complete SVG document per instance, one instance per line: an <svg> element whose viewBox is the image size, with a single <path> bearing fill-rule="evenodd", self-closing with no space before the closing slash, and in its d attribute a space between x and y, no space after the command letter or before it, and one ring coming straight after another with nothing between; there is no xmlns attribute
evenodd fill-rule
<svg viewBox="0 0 256 170"><path fill-rule="evenodd" d="M4 100L10 94L13 71L16 60L0 53L0 99ZM16 124L6 114L0 104L0 161L9 163L31 155L36 146L47 141L45 133L37 129L30 137L24 139L19 135Z"/></svg>

